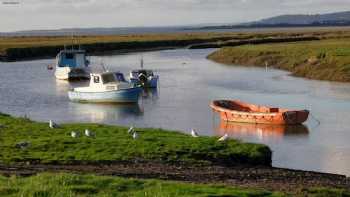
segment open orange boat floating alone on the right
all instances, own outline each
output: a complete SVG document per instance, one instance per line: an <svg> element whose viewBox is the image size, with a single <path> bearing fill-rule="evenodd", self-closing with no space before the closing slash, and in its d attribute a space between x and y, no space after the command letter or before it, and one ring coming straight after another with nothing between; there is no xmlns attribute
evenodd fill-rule
<svg viewBox="0 0 350 197"><path fill-rule="evenodd" d="M222 120L255 124L301 124L309 116L308 110L289 110L258 106L236 100L216 100L210 107Z"/></svg>

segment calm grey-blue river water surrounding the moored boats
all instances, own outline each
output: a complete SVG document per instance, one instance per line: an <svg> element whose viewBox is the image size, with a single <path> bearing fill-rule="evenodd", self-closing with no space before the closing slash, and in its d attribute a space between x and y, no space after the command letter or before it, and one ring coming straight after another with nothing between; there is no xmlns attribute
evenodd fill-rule
<svg viewBox="0 0 350 197"><path fill-rule="evenodd" d="M269 145L273 165L350 175L350 84L291 77L265 68L225 66L205 59L205 50L168 50L91 57L109 70L127 73L139 65L160 75L159 90L143 93L138 105L69 102L67 90L86 82L56 81L46 66L52 59L0 63L0 111L31 119L161 127L201 135L229 133ZM213 99L239 99L279 107L309 109L305 126L282 127L220 122ZM318 125L318 119L321 124Z"/></svg>

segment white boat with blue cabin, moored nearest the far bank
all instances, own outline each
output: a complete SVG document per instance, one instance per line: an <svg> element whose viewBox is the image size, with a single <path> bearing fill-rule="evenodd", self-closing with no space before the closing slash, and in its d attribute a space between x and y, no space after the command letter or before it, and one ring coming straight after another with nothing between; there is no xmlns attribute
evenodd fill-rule
<svg viewBox="0 0 350 197"><path fill-rule="evenodd" d="M65 49L56 56L55 76L61 80L88 79L89 61L85 50Z"/></svg>

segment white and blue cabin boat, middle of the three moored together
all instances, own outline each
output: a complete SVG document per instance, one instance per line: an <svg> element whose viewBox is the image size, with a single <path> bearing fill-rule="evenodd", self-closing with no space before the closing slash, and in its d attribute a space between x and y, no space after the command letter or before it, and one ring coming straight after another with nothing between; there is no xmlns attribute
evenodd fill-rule
<svg viewBox="0 0 350 197"><path fill-rule="evenodd" d="M119 72L92 73L88 87L68 92L71 101L94 103L136 103L142 88L127 82Z"/></svg>

